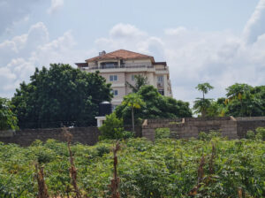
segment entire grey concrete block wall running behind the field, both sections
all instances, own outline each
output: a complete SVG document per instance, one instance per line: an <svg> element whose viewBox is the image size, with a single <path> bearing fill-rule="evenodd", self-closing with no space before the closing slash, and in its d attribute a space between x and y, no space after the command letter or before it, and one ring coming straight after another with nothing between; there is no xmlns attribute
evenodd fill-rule
<svg viewBox="0 0 265 198"><path fill-rule="evenodd" d="M254 131L257 127L265 127L265 117L254 118L170 118L170 119L146 119L142 126L135 127L136 137L145 137L155 141L156 128L170 128L172 138L197 138L200 132L209 133L218 131L229 139L246 137L249 130ZM125 126L125 130L131 131L131 126ZM73 142L94 145L98 141L100 132L97 127L70 128ZM47 141L55 139L64 141L61 128L53 129L27 129L18 132L0 131L0 141L16 143L28 146L35 140Z"/></svg>

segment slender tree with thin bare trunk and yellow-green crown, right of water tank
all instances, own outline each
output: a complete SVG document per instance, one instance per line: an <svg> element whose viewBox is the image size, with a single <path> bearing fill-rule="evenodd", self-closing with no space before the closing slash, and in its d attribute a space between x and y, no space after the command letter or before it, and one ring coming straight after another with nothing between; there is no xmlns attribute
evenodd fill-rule
<svg viewBox="0 0 265 198"><path fill-rule="evenodd" d="M140 95L132 93L129 95L125 95L123 105L128 106L132 110L132 126L133 132L134 130L134 109L140 109L145 103L141 100Z"/></svg>

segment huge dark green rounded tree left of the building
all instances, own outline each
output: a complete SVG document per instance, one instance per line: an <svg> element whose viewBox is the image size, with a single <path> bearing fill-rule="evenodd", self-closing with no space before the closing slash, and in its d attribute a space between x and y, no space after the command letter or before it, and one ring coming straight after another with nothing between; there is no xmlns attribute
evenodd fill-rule
<svg viewBox="0 0 265 198"><path fill-rule="evenodd" d="M111 97L110 84L98 72L53 64L41 71L36 68L30 83L22 82L11 102L21 128L92 126L98 104Z"/></svg>

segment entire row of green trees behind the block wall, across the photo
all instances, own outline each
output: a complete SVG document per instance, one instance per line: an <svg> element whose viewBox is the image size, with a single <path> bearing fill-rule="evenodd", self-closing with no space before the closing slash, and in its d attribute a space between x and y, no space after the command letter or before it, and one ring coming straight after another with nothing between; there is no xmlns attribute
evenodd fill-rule
<svg viewBox="0 0 265 198"><path fill-rule="evenodd" d="M196 88L202 97L189 103L160 95L148 85L146 77L135 76L135 85L126 83L133 93L117 106L117 118L125 124L145 118L249 117L265 116L265 86L234 84L226 88L225 97L206 97L213 89L208 83ZM30 82L22 82L11 101L0 100L0 130L48 128L62 126L95 126L99 103L111 101L110 83L99 72L87 73L71 65L53 64L49 69L35 70ZM133 119L133 120L132 120Z"/></svg>

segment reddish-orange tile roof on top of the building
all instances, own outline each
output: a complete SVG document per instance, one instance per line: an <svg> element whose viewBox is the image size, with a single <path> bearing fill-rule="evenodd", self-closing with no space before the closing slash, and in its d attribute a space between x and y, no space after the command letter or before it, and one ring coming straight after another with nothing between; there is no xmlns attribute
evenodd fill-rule
<svg viewBox="0 0 265 198"><path fill-rule="evenodd" d="M144 55L144 54L140 54L140 53L136 53L133 51L129 51L129 50L116 50L116 51L112 51L110 53L107 53L105 55L102 56L98 56L98 57L92 57L86 60L86 62L92 62L92 61L96 61L96 60L104 60L104 59L141 59L141 58L151 58L152 62L155 62L154 57L148 56L148 55Z"/></svg>

